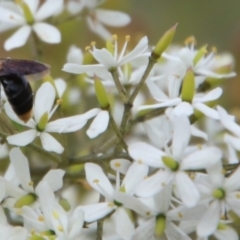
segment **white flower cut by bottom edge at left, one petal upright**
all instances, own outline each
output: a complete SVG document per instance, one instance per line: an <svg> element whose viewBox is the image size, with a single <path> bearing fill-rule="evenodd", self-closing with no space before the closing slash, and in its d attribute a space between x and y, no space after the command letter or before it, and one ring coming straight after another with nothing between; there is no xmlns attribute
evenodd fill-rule
<svg viewBox="0 0 240 240"><path fill-rule="evenodd" d="M37 188L40 208L22 208L22 217L26 228L34 236L42 236L45 231L53 231L58 240L79 239L84 215L77 207L72 214L68 214L56 201L54 193L46 181L41 181ZM47 199L47 201L46 201ZM34 229L34 231L32 231Z"/></svg>

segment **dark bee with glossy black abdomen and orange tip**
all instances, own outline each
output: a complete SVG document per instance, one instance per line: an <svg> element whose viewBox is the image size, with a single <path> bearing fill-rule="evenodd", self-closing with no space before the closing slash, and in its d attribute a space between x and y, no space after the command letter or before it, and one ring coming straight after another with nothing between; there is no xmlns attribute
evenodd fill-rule
<svg viewBox="0 0 240 240"><path fill-rule="evenodd" d="M28 80L38 80L48 74L50 67L30 60L1 59L0 83L18 117L27 122L32 116L33 92Z"/></svg>

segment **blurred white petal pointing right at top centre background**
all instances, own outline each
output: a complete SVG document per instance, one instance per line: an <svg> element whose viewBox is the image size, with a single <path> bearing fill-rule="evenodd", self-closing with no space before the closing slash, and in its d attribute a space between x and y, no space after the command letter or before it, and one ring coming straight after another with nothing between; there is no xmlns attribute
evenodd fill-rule
<svg viewBox="0 0 240 240"><path fill-rule="evenodd" d="M123 27L131 21L126 13L120 11L96 9L95 14L101 23L112 27Z"/></svg>

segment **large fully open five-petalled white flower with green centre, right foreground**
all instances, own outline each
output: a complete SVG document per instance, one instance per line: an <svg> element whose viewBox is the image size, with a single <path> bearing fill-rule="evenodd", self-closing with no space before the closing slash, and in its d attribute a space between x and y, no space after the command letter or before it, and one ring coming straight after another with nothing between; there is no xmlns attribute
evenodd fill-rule
<svg viewBox="0 0 240 240"><path fill-rule="evenodd" d="M194 207L200 194L186 170L205 169L220 161L222 153L216 147L203 147L189 151L190 123L186 116L174 118L172 146L165 152L146 143L134 143L129 146L129 154L134 160L141 160L159 171L144 179L136 189L140 197L151 197L164 186L174 181L181 201L188 207Z"/></svg>

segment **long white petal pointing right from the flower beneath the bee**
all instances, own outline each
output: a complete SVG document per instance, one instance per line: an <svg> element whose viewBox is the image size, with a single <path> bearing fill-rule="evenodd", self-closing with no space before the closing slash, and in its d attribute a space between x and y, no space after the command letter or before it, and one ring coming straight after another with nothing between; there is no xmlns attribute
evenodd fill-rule
<svg viewBox="0 0 240 240"><path fill-rule="evenodd" d="M78 131L85 126L90 118L96 116L100 111L100 109L94 108L84 114L52 121L47 124L45 131L58 133Z"/></svg>

